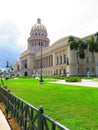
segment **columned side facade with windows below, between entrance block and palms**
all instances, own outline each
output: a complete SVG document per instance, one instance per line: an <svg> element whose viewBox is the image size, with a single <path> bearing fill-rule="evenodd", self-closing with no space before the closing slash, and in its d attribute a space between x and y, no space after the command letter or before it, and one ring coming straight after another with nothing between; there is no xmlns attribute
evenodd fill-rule
<svg viewBox="0 0 98 130"><path fill-rule="evenodd" d="M53 52L51 55L42 58L42 69L44 75L63 75L66 73L67 56L65 50ZM41 59L35 60L35 68L40 73Z"/></svg>

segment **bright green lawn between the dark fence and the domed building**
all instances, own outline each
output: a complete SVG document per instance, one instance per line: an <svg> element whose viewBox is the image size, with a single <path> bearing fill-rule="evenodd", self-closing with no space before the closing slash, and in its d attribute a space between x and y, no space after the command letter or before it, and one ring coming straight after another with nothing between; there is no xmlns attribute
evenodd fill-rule
<svg viewBox="0 0 98 130"><path fill-rule="evenodd" d="M12 93L70 130L98 130L98 88L52 84L38 79L10 79L4 84Z"/></svg>

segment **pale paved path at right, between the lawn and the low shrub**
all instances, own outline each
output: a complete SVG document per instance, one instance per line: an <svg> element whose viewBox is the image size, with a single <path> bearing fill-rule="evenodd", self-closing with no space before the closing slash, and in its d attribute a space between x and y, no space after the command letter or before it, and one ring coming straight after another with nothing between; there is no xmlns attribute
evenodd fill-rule
<svg viewBox="0 0 98 130"><path fill-rule="evenodd" d="M81 82L66 82L65 80L59 80L57 82L52 82L57 84L69 84L69 85L76 85L76 86L86 86L86 87L98 87L98 82L92 80L82 80Z"/></svg>

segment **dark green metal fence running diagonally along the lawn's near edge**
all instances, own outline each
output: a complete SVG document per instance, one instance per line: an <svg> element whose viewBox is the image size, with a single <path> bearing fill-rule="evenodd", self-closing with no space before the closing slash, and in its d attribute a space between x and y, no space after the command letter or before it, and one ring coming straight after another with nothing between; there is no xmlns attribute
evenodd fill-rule
<svg viewBox="0 0 98 130"><path fill-rule="evenodd" d="M21 98L0 87L0 100L5 105L6 116L11 114L21 130L69 130Z"/></svg>

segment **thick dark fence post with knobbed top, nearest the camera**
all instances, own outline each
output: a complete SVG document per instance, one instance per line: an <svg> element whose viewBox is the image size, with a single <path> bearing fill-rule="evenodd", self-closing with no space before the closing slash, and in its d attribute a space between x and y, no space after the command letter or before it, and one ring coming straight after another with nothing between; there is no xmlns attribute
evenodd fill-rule
<svg viewBox="0 0 98 130"><path fill-rule="evenodd" d="M38 113L38 130L43 130L44 128L42 114L43 114L43 107L41 106L39 108L39 113Z"/></svg>

